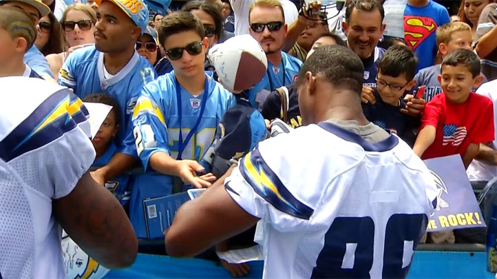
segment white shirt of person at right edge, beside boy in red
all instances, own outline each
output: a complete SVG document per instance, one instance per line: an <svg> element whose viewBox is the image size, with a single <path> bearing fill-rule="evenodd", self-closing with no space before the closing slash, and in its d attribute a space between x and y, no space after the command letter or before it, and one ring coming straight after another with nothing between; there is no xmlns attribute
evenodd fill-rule
<svg viewBox="0 0 497 279"><path fill-rule="evenodd" d="M494 103L494 127L497 127L497 80L484 83L476 93L488 97ZM495 133L496 139L492 142L491 147L497 150L497 129ZM489 166L474 159L466 173L470 181L490 181L497 177L497 166Z"/></svg>

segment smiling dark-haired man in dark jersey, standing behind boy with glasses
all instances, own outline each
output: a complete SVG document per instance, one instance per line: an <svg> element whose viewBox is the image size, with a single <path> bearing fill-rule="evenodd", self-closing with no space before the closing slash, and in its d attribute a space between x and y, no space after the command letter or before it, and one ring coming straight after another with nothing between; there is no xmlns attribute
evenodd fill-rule
<svg viewBox="0 0 497 279"><path fill-rule="evenodd" d="M376 102L373 92L377 87L378 64L385 53L385 49L377 45L385 30L384 18L385 11L377 0L355 0L347 6L343 30L348 47L364 65L363 103ZM425 107L424 100L414 99L411 95L406 96L405 103L403 112L410 115L420 115Z"/></svg>

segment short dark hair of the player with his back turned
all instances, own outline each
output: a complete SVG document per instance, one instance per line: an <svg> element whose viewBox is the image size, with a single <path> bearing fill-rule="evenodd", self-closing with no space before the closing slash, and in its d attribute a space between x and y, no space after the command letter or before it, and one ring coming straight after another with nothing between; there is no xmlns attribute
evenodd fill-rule
<svg viewBox="0 0 497 279"><path fill-rule="evenodd" d="M306 80L308 71L314 75L323 75L337 88L355 91L357 95L361 95L364 66L359 56L347 47L341 45L318 47L302 65L297 85Z"/></svg>

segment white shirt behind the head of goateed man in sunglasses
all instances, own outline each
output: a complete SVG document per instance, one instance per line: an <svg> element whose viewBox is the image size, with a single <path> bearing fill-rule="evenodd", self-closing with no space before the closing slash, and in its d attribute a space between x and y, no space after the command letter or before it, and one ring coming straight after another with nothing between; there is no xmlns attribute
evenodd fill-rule
<svg viewBox="0 0 497 279"><path fill-rule="evenodd" d="M255 0L229 0L231 2L231 7L233 8L233 13L235 13L235 36L249 34L249 9ZM289 0L279 0L283 6L283 12L285 14L285 23L287 25L292 24L297 20L299 16L299 11L297 6L295 6L292 1Z"/></svg>

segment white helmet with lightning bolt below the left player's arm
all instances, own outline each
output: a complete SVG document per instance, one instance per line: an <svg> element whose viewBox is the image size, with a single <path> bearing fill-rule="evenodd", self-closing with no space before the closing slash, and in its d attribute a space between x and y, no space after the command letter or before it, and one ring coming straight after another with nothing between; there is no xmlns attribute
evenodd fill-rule
<svg viewBox="0 0 497 279"><path fill-rule="evenodd" d="M88 256L65 232L62 233L61 244L66 272L65 278L100 279L109 273L109 269Z"/></svg>

